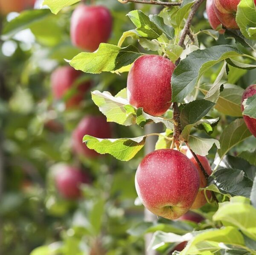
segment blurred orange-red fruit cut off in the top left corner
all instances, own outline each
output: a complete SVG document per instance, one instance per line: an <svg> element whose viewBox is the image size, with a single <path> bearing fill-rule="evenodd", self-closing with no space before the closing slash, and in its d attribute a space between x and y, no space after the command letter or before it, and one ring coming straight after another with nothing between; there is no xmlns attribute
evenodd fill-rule
<svg viewBox="0 0 256 255"><path fill-rule="evenodd" d="M33 7L35 0L0 0L0 14L6 15L9 12L20 12Z"/></svg>

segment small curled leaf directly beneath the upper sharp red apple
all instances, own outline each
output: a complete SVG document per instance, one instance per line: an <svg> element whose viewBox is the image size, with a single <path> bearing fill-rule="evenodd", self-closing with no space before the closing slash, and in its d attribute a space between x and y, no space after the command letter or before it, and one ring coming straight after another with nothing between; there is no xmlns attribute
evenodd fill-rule
<svg viewBox="0 0 256 255"><path fill-rule="evenodd" d="M136 115L137 115L136 123L140 127L144 127L146 124L153 121L154 123L163 123L166 126L166 129L174 129L172 120L168 120L164 117L149 115L143 112L143 108L137 109Z"/></svg>

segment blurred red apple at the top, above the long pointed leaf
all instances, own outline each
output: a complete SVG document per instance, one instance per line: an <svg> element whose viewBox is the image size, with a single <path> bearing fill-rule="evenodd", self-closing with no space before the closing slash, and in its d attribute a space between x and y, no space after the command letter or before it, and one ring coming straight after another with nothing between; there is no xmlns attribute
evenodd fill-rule
<svg viewBox="0 0 256 255"><path fill-rule="evenodd" d="M94 52L106 43L112 31L112 17L104 6L79 5L71 17L70 35L73 45Z"/></svg>

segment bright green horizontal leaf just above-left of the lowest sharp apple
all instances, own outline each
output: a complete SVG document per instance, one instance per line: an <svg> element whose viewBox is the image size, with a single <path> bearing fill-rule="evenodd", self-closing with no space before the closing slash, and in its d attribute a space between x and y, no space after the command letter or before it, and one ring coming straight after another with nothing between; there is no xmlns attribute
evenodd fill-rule
<svg viewBox="0 0 256 255"><path fill-rule="evenodd" d="M100 139L85 135L83 142L89 149L94 149L100 154L110 154L113 157L128 161L133 158L144 146L145 136L137 138Z"/></svg>

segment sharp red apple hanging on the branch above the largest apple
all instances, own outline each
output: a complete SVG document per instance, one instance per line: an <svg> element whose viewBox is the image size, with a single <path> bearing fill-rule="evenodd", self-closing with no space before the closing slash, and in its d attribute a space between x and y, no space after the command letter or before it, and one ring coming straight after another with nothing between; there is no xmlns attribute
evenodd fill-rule
<svg viewBox="0 0 256 255"><path fill-rule="evenodd" d="M128 100L136 108L159 116L171 106L171 78L175 64L158 55L139 57L131 67L127 79Z"/></svg>

